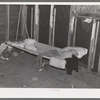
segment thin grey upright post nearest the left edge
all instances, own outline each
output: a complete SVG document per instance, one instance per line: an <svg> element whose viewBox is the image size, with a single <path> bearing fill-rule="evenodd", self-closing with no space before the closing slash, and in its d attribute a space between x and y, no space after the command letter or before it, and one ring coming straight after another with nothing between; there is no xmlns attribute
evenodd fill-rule
<svg viewBox="0 0 100 100"><path fill-rule="evenodd" d="M6 6L7 11L7 28L6 28L6 41L9 41L9 18L10 18L10 6Z"/></svg>

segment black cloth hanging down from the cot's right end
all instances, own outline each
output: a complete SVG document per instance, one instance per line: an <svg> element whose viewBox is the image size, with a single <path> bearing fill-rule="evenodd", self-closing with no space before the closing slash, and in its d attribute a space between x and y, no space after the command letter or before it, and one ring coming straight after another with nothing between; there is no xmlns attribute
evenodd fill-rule
<svg viewBox="0 0 100 100"><path fill-rule="evenodd" d="M78 61L79 59L75 56L72 55L72 58L66 58L66 73L71 75L72 71L75 70L78 72Z"/></svg>

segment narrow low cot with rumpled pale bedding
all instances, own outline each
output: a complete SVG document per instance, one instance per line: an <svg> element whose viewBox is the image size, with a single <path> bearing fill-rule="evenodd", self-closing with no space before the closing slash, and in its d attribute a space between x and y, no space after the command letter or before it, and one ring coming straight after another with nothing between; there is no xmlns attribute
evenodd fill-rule
<svg viewBox="0 0 100 100"><path fill-rule="evenodd" d="M81 59L84 55L87 54L87 49L83 47L58 48L37 42L34 39L26 39L25 41L20 42L7 41L6 44L30 54L36 55L40 68L42 66L43 58L48 59L51 66L65 69L66 58L72 58L72 55L74 55L78 59Z"/></svg>

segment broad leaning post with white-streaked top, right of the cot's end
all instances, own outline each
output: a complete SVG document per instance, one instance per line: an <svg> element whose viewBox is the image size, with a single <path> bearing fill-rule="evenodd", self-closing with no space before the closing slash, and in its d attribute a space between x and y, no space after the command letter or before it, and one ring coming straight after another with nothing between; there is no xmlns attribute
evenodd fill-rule
<svg viewBox="0 0 100 100"><path fill-rule="evenodd" d="M88 58L88 71L91 71L92 62L93 62L93 53L94 53L94 41L95 41L95 33L96 33L96 19L93 20L92 33L91 33L91 41L89 48L89 58Z"/></svg>

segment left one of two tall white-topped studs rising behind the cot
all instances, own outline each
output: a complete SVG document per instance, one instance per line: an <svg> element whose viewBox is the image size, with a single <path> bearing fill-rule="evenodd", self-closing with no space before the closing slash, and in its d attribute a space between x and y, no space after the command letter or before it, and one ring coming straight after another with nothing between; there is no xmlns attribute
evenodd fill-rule
<svg viewBox="0 0 100 100"><path fill-rule="evenodd" d="M34 39L39 41L39 6L35 5L34 15Z"/></svg>

